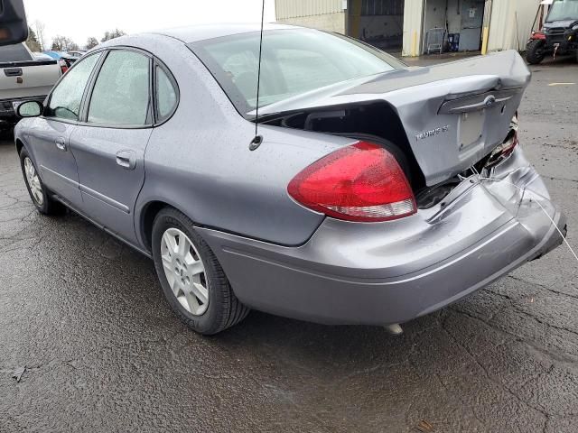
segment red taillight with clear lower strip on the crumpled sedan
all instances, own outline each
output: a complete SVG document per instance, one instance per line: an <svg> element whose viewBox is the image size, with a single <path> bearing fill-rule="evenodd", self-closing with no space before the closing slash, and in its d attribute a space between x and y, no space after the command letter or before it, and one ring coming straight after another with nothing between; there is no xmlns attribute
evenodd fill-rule
<svg viewBox="0 0 578 433"><path fill-rule="evenodd" d="M301 171L287 187L304 207L348 221L389 221L415 214L415 198L396 158L359 142Z"/></svg>

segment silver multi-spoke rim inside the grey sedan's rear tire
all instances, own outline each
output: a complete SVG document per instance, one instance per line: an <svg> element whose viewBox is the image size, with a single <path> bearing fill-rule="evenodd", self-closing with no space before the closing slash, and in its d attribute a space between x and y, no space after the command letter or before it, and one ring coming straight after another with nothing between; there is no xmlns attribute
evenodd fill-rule
<svg viewBox="0 0 578 433"><path fill-rule="evenodd" d="M209 308L209 284L191 239L177 228L167 229L161 240L161 257L174 297L192 315L202 315Z"/></svg>

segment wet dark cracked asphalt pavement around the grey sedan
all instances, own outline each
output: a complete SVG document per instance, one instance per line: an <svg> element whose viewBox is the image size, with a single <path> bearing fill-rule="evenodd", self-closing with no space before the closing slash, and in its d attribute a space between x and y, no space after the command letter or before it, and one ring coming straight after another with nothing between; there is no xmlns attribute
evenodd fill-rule
<svg viewBox="0 0 578 433"><path fill-rule="evenodd" d="M578 65L533 70L521 140L578 246ZM560 247L401 337L257 312L197 336L148 259L36 213L5 141L0 431L575 432L577 267Z"/></svg>

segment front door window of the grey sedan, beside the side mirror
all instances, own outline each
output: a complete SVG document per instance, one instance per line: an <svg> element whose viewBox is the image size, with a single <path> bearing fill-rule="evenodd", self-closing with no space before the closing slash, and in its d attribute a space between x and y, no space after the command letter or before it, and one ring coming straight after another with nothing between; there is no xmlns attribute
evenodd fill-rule
<svg viewBox="0 0 578 433"><path fill-rule="evenodd" d="M52 91L46 115L67 120L79 120L82 95L89 82L90 74L101 53L79 60L74 68L62 78Z"/></svg>

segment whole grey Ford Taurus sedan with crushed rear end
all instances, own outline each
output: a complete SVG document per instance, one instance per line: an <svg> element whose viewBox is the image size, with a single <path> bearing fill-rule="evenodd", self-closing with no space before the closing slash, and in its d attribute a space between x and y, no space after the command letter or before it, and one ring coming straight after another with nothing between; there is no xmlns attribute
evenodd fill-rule
<svg viewBox="0 0 578 433"><path fill-rule="evenodd" d="M18 107L34 205L151 257L202 334L249 309L396 330L562 243L565 218L518 145L530 73L516 52L408 68L269 25L257 97L258 30L85 54L43 105Z"/></svg>

